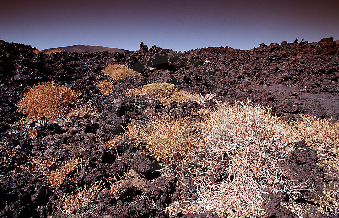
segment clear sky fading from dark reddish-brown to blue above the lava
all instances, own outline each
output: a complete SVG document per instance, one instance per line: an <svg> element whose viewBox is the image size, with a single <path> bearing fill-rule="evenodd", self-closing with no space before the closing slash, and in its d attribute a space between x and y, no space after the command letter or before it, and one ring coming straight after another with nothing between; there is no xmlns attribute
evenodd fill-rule
<svg viewBox="0 0 339 218"><path fill-rule="evenodd" d="M0 39L39 50L98 45L175 51L339 40L339 1L2 0Z"/></svg>

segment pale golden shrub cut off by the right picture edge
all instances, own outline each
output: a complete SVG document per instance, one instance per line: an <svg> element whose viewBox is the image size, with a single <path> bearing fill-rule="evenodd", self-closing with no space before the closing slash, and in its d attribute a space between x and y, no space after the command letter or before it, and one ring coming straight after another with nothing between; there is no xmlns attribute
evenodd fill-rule
<svg viewBox="0 0 339 218"><path fill-rule="evenodd" d="M317 119L311 115L301 115L302 120L295 125L307 146L316 149L320 166L330 166L339 170L339 122L331 118Z"/></svg>

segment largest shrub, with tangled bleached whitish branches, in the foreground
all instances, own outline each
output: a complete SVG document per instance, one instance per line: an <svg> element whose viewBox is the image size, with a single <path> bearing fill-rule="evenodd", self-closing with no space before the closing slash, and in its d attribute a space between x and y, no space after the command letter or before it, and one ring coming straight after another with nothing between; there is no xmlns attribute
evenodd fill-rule
<svg viewBox="0 0 339 218"><path fill-rule="evenodd" d="M263 213L262 194L284 190L295 196L302 188L289 181L277 163L295 149L297 134L290 123L271 116L269 108L251 102L218 105L201 126L208 152L191 210L255 217ZM226 176L220 183L212 182L216 169Z"/></svg>

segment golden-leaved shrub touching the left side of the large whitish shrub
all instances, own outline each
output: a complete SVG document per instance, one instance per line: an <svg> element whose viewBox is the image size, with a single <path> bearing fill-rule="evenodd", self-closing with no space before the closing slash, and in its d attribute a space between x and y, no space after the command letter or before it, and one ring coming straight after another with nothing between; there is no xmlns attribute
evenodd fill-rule
<svg viewBox="0 0 339 218"><path fill-rule="evenodd" d="M152 117L146 125L130 125L125 137L145 144L158 161L185 167L204 151L196 122L169 114Z"/></svg>

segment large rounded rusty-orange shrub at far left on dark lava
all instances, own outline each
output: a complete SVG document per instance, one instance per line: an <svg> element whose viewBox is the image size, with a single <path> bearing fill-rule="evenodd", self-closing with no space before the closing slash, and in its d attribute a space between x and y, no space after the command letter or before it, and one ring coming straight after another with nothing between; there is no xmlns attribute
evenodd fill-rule
<svg viewBox="0 0 339 218"><path fill-rule="evenodd" d="M63 114L63 107L72 103L79 95L78 91L49 81L31 86L16 106L30 120L38 121L42 117L53 120L57 115Z"/></svg>

